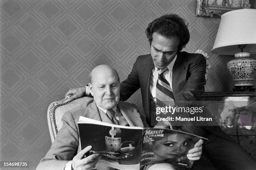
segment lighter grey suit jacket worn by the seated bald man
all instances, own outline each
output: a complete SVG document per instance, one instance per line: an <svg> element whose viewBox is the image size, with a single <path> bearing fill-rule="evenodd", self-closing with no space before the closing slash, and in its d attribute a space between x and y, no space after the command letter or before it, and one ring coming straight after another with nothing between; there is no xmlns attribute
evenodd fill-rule
<svg viewBox="0 0 256 170"><path fill-rule="evenodd" d="M138 112L136 105L120 101L118 108L130 126L148 127L144 117ZM93 100L66 112L62 117L63 126L59 130L50 150L39 163L37 170L64 170L66 163L72 160L80 151L77 126L79 116L112 124L105 113L97 109L97 105Z"/></svg>

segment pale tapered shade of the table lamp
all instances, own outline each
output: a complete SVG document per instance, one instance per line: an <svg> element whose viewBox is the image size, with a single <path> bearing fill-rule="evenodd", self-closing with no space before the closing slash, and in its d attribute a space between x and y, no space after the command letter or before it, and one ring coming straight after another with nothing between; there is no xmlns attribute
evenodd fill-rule
<svg viewBox="0 0 256 170"><path fill-rule="evenodd" d="M234 55L238 45L244 52L256 53L256 9L233 10L221 16L212 53Z"/></svg>

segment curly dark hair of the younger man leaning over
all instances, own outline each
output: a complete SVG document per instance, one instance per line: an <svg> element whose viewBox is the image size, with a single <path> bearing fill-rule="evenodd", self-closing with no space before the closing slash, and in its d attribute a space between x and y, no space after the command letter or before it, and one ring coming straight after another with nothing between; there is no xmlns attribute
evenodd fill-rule
<svg viewBox="0 0 256 170"><path fill-rule="evenodd" d="M153 33L157 32L164 37L178 37L179 46L178 51L181 51L183 47L189 42L189 30L184 19L176 14L167 14L159 18L156 18L153 22L148 24L146 28L146 36L151 45L153 40Z"/></svg>

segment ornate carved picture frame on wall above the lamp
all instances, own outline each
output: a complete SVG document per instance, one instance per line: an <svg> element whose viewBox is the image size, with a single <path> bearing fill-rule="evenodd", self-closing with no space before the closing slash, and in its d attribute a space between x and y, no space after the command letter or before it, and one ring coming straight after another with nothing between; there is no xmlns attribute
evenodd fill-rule
<svg viewBox="0 0 256 170"><path fill-rule="evenodd" d="M196 16L216 17L231 10L250 8L249 0L197 0Z"/></svg>

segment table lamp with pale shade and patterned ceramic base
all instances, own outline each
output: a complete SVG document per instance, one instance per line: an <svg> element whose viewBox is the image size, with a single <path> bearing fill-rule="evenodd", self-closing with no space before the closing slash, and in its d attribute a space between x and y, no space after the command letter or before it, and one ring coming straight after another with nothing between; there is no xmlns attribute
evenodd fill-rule
<svg viewBox="0 0 256 170"><path fill-rule="evenodd" d="M234 80L234 91L254 91L256 60L256 9L233 10L221 15L220 26L212 48L218 55L235 55L228 62Z"/></svg>

